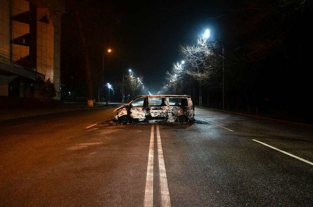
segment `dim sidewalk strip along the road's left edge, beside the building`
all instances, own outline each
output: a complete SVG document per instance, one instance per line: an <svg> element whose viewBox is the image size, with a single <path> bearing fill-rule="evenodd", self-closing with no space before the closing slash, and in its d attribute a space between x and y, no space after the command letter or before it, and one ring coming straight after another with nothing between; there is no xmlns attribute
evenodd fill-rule
<svg viewBox="0 0 313 207"><path fill-rule="evenodd" d="M54 107L47 107L41 109L1 109L0 110L0 121L22 118L27 116L37 116L37 115L47 115L53 113L62 113L62 112L69 112L69 111L79 111L84 109L102 109L108 106L120 106L122 103L95 103L93 108L88 108L87 103L64 103L59 106ZM117 108L117 107L116 107Z"/></svg>

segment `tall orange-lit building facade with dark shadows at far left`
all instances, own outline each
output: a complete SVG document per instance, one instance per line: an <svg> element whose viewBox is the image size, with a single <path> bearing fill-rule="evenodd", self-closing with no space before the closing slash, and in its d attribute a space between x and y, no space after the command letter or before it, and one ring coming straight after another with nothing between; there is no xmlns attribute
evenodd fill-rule
<svg viewBox="0 0 313 207"><path fill-rule="evenodd" d="M36 81L61 93L62 0L0 0L0 96L34 97Z"/></svg>

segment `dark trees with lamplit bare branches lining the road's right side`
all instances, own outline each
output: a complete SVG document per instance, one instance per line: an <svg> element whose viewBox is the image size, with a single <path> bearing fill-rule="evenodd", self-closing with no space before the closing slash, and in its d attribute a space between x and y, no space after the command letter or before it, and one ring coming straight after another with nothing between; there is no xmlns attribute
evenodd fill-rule
<svg viewBox="0 0 313 207"><path fill-rule="evenodd" d="M233 14L236 29L225 31L232 39L199 36L179 46L185 63L167 72L164 92L188 94L189 88L199 104L222 108L224 85L226 110L312 120L312 2L251 2Z"/></svg>

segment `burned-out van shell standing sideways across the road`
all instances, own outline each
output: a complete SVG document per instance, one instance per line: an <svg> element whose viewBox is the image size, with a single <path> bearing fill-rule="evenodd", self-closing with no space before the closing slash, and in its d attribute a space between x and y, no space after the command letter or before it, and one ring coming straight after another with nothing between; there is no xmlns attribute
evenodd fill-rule
<svg viewBox="0 0 313 207"><path fill-rule="evenodd" d="M194 122L194 105L189 95L139 95L115 109L118 123Z"/></svg>

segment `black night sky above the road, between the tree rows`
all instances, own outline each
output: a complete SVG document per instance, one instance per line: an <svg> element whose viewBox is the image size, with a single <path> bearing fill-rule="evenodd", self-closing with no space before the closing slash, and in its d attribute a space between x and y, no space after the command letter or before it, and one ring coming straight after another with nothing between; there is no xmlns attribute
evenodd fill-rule
<svg viewBox="0 0 313 207"><path fill-rule="evenodd" d="M120 4L120 3L119 3ZM192 44L206 28L221 32L222 18L227 9L214 1L171 1L153 4L127 3L119 25L116 49L125 59L122 68L131 68L142 75L151 92L165 83L165 72L181 61L179 44ZM212 19L211 19L212 18ZM220 22L219 22L220 20ZM119 53L119 51L118 51Z"/></svg>

